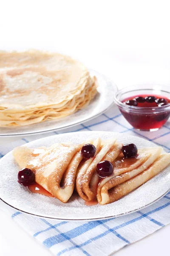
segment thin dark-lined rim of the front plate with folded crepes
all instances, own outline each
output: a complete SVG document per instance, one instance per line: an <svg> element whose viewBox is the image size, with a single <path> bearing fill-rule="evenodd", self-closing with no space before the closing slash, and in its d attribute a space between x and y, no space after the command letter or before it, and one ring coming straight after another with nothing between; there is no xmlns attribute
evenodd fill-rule
<svg viewBox="0 0 170 256"><path fill-rule="evenodd" d="M56 134L56 135L52 135L52 136L49 136L49 137L57 137L58 135L59 135L59 136L64 136L65 134L72 134L72 135L74 135L75 133L89 133L89 134L90 134L90 133L93 133L93 134L95 134L95 133L102 133L102 132L104 132L104 133L111 133L111 134L113 134L113 133L114 133L114 134L116 134L116 133L119 134L119 132L112 132L112 131L84 131L84 132L83 132L83 131L77 131L77 132L69 132L69 133ZM133 135L129 135L129 136L131 136L131 137L137 137L137 136L133 136ZM48 137L48 138L49 138L49 137ZM35 141L41 141L41 140L44 140L45 138L46 138L46 137L43 137L43 138L40 138L40 139L37 139L37 140L33 140L33 141L29 142L29 143L34 143ZM146 140L146 139L142 138L142 140ZM24 146L26 146L26 145L29 144L29 143L24 144ZM153 143L153 142L152 142L152 143ZM153 143L153 144L155 144L155 143ZM156 145L156 144L155 144L155 145ZM5 157L5 158L8 157L8 154L11 154L12 151L13 151L13 150L9 151L4 157ZM0 159L0 162L1 162L1 160L2 160L4 157L2 157L2 158ZM120 216L128 215L128 214L131 214L131 213L133 213L133 212L139 211L140 209L144 209L144 208L146 208L146 207L149 207L150 205L156 203L156 202L159 201L161 198L163 198L164 195L167 195L168 192L170 192L170 189L168 189L166 192L164 192L164 194L161 195L159 198L156 198L156 200L150 202L149 204L147 204L147 205L145 205L145 206L143 206L143 207L139 207L139 208L137 208L137 209L134 209L134 210L132 210L132 211L130 211L130 212L125 212L125 213L122 213L122 214L119 214L119 215L111 215L111 216L106 216L106 217L101 217L101 218L84 218L84 219L79 219L79 218L78 218L78 219L57 218L57 217L50 217L50 216L38 215L38 214L34 214L34 213L31 213L31 212L26 212L26 211L24 211L24 210L18 209L17 207L14 207L14 206L12 206L11 204L8 204L8 203L7 203L5 200L3 200L1 197L0 197L0 201L2 201L3 203L5 203L6 205L8 205L9 207L11 207L11 208L13 208L13 209L16 209L16 210L18 210L18 211L20 211L20 212L26 213L26 214L28 214L28 215L36 216L36 217L38 217L38 218L55 219L55 220L58 220L58 221L97 221L97 220L104 220L104 219L117 218L117 217L120 217Z"/></svg>

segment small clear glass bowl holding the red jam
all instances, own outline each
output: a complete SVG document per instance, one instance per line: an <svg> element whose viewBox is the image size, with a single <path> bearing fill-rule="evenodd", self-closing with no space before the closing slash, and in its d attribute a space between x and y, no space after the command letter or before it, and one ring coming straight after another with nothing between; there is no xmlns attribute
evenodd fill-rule
<svg viewBox="0 0 170 256"><path fill-rule="evenodd" d="M161 107L135 107L122 103L129 97L139 95L161 96L170 99L170 86L138 84L125 87L114 96L116 105L130 125L141 131L157 131L170 116L170 104Z"/></svg>

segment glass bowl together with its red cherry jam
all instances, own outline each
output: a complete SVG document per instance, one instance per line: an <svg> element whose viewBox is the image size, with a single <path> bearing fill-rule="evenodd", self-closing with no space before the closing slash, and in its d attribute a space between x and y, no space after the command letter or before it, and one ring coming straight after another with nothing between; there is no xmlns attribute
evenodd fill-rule
<svg viewBox="0 0 170 256"><path fill-rule="evenodd" d="M114 100L135 129L157 131L170 117L170 86L139 84L119 90Z"/></svg>

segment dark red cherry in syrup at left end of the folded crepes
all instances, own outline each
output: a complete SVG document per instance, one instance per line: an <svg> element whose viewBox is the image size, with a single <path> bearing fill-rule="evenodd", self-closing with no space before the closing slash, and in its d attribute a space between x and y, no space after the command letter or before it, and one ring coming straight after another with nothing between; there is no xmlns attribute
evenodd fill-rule
<svg viewBox="0 0 170 256"><path fill-rule="evenodd" d="M18 182L21 185L28 186L34 182L35 175L31 169L23 168L18 172Z"/></svg>

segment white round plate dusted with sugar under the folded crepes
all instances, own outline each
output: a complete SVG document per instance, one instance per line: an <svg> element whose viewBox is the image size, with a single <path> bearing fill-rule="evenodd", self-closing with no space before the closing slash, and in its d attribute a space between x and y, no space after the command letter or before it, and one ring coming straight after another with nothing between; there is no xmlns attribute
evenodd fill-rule
<svg viewBox="0 0 170 256"><path fill-rule="evenodd" d="M104 131L59 134L35 140L26 145L33 148L43 145L49 147L54 143L82 143L87 138L97 137L102 138L102 140L117 138L118 142L135 143L138 148L156 146L154 143L139 137ZM138 189L112 204L85 206L85 201L78 195L72 196L67 204L63 204L58 199L31 193L26 187L21 186L17 182L18 171L19 167L14 161L11 151L0 160L1 200L15 209L31 215L67 221L98 220L125 215L153 204L170 189L169 166Z"/></svg>

